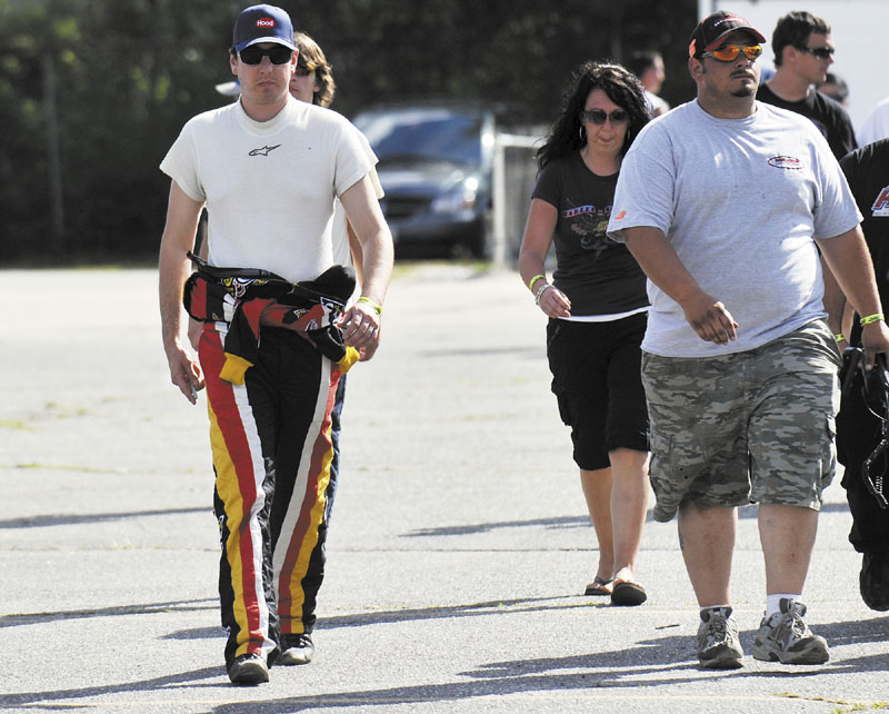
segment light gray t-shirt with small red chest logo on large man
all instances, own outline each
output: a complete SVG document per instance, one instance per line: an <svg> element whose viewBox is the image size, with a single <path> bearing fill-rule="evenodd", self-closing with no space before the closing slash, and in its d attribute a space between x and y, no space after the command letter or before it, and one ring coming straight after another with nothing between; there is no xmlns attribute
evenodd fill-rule
<svg viewBox="0 0 889 714"><path fill-rule="evenodd" d="M608 235L660 229L701 288L738 323L738 339L698 337L681 307L648 281L642 349L712 357L753 349L826 317L812 238L861 216L811 121L762 102L745 119L717 119L697 100L650 122L620 169Z"/></svg>

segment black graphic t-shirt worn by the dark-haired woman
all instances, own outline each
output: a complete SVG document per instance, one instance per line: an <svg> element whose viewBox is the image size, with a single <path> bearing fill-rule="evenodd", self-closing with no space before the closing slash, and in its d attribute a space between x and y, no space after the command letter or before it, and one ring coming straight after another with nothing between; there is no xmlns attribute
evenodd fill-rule
<svg viewBox="0 0 889 714"><path fill-rule="evenodd" d="M618 175L597 176L580 152L540 172L532 198L556 207L553 284L571 300L571 315L617 315L648 305L646 276L623 244L606 234Z"/></svg>

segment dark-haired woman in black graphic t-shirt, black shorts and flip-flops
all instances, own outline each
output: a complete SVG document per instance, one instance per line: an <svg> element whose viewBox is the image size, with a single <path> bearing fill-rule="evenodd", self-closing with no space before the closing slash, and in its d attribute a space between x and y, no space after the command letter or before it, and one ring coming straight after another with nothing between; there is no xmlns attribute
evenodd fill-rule
<svg viewBox="0 0 889 714"><path fill-rule="evenodd" d="M575 72L540 169L519 255L519 272L550 318L547 356L562 420L599 541L587 595L640 605L636 557L648 508L648 413L640 344L646 276L606 235L620 163L648 122L645 89L619 65ZM553 282L545 261L556 242Z"/></svg>

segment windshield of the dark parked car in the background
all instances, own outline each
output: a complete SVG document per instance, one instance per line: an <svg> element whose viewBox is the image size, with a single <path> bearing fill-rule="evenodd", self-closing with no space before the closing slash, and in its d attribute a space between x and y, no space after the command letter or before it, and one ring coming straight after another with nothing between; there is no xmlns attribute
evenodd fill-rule
<svg viewBox="0 0 889 714"><path fill-rule="evenodd" d="M381 162L481 162L481 118L452 111L377 111L356 125Z"/></svg>

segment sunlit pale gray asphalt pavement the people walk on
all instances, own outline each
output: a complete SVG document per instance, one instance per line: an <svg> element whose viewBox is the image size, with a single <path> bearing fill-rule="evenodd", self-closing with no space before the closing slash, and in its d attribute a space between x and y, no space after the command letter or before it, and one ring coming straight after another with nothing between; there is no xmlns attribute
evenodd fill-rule
<svg viewBox="0 0 889 714"><path fill-rule="evenodd" d="M698 668L675 524L649 601L581 595L597 543L518 275L400 265L350 373L314 661L232 687L206 400L169 384L153 270L0 272L0 711L817 712L889 708L889 617L858 594L838 483L803 599L822 666L757 662L765 583L741 514L741 670Z"/></svg>

